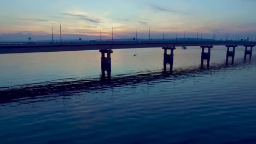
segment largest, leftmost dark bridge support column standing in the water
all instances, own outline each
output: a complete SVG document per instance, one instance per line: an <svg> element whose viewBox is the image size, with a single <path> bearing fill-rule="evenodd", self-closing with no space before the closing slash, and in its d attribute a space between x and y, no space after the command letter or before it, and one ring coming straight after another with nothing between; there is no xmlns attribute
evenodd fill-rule
<svg viewBox="0 0 256 144"><path fill-rule="evenodd" d="M107 71L108 79L110 79L111 74L111 53L112 50L100 50L101 52L101 72L102 77L105 77L105 71ZM107 57L105 54L107 53Z"/></svg>

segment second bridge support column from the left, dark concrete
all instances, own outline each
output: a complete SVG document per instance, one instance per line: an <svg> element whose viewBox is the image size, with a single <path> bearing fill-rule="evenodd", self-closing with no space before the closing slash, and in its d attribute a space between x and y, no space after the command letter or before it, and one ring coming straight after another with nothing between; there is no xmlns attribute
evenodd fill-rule
<svg viewBox="0 0 256 144"><path fill-rule="evenodd" d="M176 48L173 47L162 47L164 50L164 69L166 70L166 64L170 64L170 70L172 70L173 67L173 51L176 50ZM170 54L167 54L167 50L171 50Z"/></svg>

